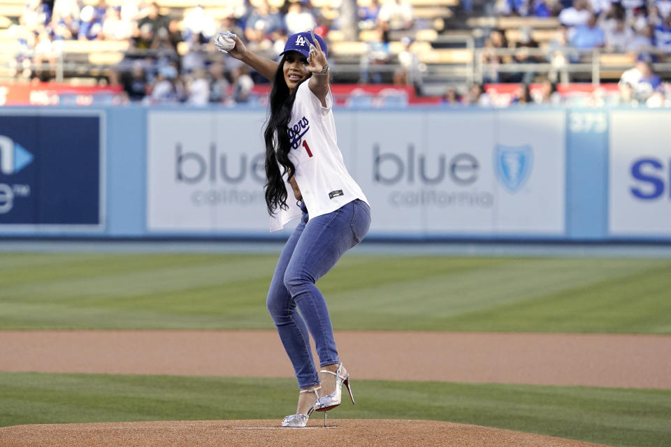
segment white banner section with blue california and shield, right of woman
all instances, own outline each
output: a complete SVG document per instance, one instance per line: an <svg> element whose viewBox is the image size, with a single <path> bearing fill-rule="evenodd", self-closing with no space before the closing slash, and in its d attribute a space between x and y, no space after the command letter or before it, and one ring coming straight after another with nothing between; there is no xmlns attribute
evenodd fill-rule
<svg viewBox="0 0 671 447"><path fill-rule="evenodd" d="M371 235L563 235L565 114L361 112Z"/></svg>

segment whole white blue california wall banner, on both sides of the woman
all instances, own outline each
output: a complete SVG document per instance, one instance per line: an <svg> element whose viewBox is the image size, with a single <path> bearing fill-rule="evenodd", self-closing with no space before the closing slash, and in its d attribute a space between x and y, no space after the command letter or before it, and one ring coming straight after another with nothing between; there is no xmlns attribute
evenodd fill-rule
<svg viewBox="0 0 671 447"><path fill-rule="evenodd" d="M370 235L563 235L559 111L336 111ZM152 111L147 228L264 235L264 111Z"/></svg>

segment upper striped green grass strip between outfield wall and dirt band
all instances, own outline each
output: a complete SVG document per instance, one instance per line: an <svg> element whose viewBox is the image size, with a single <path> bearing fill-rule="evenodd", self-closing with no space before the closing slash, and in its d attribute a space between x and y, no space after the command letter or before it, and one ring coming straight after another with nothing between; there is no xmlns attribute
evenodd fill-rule
<svg viewBox="0 0 671 447"><path fill-rule="evenodd" d="M0 328L273 328L274 255L12 256ZM318 285L341 330L669 333L669 273L658 259L347 254Z"/></svg>

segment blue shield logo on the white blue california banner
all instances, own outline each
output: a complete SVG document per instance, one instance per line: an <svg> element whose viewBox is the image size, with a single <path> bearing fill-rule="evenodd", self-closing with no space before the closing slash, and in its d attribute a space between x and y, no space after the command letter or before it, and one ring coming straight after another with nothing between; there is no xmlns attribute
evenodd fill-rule
<svg viewBox="0 0 671 447"><path fill-rule="evenodd" d="M510 193L517 193L531 175L533 150L529 145L497 145L494 149L494 166L500 184Z"/></svg>

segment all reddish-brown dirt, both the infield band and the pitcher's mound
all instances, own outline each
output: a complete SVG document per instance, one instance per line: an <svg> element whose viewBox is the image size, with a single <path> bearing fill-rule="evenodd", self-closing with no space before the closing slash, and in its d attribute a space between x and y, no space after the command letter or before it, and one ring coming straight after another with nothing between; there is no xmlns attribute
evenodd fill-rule
<svg viewBox="0 0 671 447"><path fill-rule="evenodd" d="M671 388L664 335L335 332L356 379ZM294 376L275 331L0 331L0 371ZM20 425L0 447L27 446L596 446L475 425L330 420ZM261 428L266 427L266 428ZM328 439L325 442L324 439Z"/></svg>

